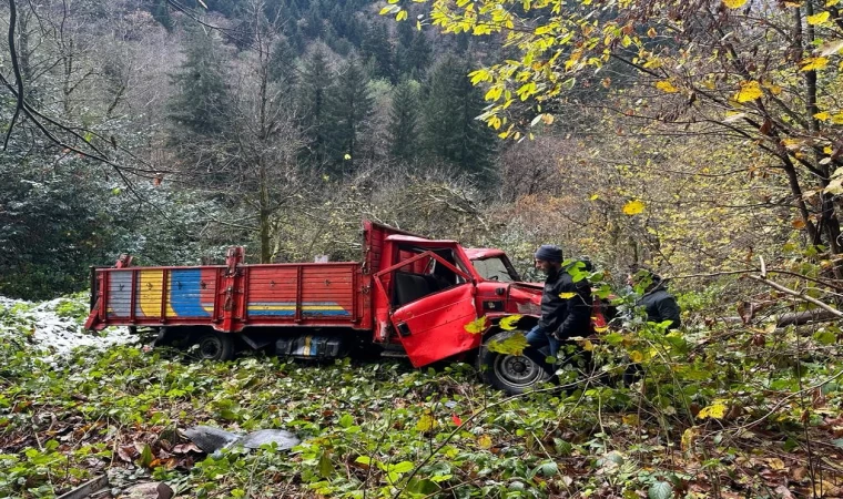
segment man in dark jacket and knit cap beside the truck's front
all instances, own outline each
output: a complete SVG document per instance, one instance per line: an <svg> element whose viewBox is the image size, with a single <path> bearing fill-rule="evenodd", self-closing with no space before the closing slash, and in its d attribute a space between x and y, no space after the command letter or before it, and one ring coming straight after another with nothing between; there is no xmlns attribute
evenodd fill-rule
<svg viewBox="0 0 843 499"><path fill-rule="evenodd" d="M559 246L545 244L535 258L536 268L547 274L547 279L541 295L541 317L527 333L530 346L525 355L550 371L553 366L545 361L538 349L547 346L549 355L556 357L562 340L591 333L591 286L586 279L575 283L565 272Z"/></svg>

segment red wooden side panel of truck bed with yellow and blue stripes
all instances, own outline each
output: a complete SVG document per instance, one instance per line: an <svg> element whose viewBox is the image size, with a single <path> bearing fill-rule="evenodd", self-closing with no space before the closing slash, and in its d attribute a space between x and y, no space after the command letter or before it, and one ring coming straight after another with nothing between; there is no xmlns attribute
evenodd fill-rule
<svg viewBox="0 0 843 499"><path fill-rule="evenodd" d="M357 263L95 269L85 324L106 326L314 326L360 328Z"/></svg>

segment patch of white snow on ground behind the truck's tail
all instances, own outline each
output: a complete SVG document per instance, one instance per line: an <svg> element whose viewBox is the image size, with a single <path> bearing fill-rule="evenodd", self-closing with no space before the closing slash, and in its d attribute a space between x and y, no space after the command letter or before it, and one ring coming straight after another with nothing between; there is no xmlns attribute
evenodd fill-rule
<svg viewBox="0 0 843 499"><path fill-rule="evenodd" d="M47 353L47 360L69 354L73 348L88 347L104 349L113 345L138 342L126 327L111 327L103 332L89 332L82 327L84 317L62 317L55 309L62 303L73 298L57 298L38 305L21 299L0 296L0 313L11 310L16 318L13 325L0 323L0 337L16 337L33 349ZM24 333L21 334L21 328ZM29 333L29 334L27 334Z"/></svg>

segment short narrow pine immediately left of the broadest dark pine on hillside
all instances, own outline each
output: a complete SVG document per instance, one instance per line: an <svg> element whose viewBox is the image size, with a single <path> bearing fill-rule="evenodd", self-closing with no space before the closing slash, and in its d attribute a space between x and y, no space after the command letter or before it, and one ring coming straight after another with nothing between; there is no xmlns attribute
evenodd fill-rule
<svg viewBox="0 0 843 499"><path fill-rule="evenodd" d="M418 155L418 83L404 80L393 92L389 112L389 153L400 161L413 161Z"/></svg>

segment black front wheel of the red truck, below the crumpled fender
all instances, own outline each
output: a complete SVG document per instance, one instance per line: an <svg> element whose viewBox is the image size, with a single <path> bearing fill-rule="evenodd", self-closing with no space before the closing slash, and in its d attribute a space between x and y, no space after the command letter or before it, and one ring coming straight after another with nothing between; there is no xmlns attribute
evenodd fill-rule
<svg viewBox="0 0 843 499"><path fill-rule="evenodd" d="M490 340L502 342L515 333L524 334L524 332L504 332L489 336L477 356L477 365L484 381L510 395L529 391L548 383L551 378L547 369L528 357L498 354L486 347Z"/></svg>

